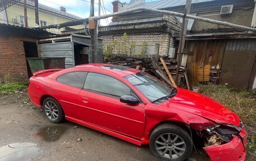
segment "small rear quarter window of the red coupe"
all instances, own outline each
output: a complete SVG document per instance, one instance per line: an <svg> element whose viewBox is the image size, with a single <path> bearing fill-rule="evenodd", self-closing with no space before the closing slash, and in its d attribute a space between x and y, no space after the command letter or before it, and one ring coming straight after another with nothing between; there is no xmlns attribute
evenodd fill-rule
<svg viewBox="0 0 256 161"><path fill-rule="evenodd" d="M88 72L70 72L66 73L57 78L57 81L69 85L74 86L75 88L83 88L84 80Z"/></svg>

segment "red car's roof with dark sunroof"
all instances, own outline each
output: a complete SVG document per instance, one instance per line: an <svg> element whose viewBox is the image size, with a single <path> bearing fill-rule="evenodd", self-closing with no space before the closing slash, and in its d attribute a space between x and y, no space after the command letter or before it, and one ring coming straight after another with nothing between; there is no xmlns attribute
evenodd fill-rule
<svg viewBox="0 0 256 161"><path fill-rule="evenodd" d="M106 63L85 64L85 65L79 65L79 66L75 66L75 67L79 67L79 68L80 67L89 67L89 68L95 68L95 69L100 69L100 70L106 70L106 71L115 73L116 75L119 75L121 77L140 72L140 70L136 70L135 68L120 66L120 65L106 64Z"/></svg>

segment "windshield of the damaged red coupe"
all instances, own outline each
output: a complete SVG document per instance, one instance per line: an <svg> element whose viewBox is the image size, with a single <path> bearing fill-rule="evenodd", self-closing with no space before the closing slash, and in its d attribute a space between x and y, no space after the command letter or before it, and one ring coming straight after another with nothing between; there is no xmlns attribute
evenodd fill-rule
<svg viewBox="0 0 256 161"><path fill-rule="evenodd" d="M152 103L172 95L173 88L169 88L144 72L126 76L125 79L140 90Z"/></svg>

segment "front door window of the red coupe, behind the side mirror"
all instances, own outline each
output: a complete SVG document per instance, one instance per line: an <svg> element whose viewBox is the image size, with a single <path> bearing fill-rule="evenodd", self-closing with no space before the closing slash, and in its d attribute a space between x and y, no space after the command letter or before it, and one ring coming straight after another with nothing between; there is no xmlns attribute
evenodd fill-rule
<svg viewBox="0 0 256 161"><path fill-rule="evenodd" d="M131 89L123 82L99 73L88 73L84 89L115 97L133 94Z"/></svg>

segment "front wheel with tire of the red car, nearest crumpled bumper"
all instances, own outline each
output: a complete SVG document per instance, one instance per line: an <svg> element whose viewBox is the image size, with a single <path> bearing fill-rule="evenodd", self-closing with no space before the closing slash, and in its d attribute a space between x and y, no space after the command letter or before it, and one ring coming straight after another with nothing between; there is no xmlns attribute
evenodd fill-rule
<svg viewBox="0 0 256 161"><path fill-rule="evenodd" d="M183 128L166 123L151 132L149 147L158 158L168 161L183 161L192 153L193 142L189 133Z"/></svg>

